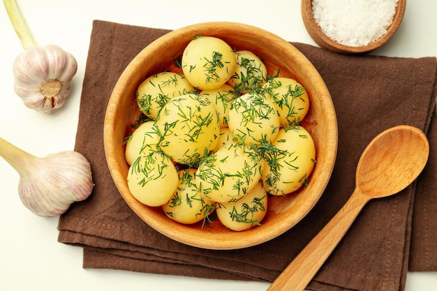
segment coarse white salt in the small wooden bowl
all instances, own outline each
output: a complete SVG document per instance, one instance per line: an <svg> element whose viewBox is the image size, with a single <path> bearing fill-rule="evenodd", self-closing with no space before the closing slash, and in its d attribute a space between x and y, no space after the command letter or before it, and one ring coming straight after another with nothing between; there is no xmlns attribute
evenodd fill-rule
<svg viewBox="0 0 437 291"><path fill-rule="evenodd" d="M393 22L398 0L313 0L314 20L323 33L351 47L369 45Z"/></svg>

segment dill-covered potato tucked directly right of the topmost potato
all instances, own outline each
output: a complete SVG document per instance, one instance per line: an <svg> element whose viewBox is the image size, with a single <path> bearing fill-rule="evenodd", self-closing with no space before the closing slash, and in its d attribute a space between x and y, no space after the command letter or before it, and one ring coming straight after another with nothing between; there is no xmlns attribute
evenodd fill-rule
<svg viewBox="0 0 437 291"><path fill-rule="evenodd" d="M236 90L249 93L267 81L267 68L260 57L249 50L238 50L237 67L228 84Z"/></svg>

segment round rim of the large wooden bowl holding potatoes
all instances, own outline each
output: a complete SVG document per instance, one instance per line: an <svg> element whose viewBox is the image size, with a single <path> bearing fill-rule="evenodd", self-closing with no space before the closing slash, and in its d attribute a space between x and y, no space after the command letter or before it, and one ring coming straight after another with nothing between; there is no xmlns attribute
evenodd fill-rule
<svg viewBox="0 0 437 291"><path fill-rule="evenodd" d="M191 229L189 227L186 227L186 225L182 225L177 223L179 227L177 229L168 230L168 223L169 221L172 222L169 218L161 216L161 217L155 217L153 216L154 213L149 209L149 207L141 204L138 202L138 200L133 197L133 195L128 191L128 186L126 182L126 177L124 177L121 172L121 166L119 163L122 163L123 161L117 160L114 153L117 151L117 147L120 146L121 142L116 144L115 142L112 142L112 136L115 133L115 124L116 124L116 118L114 116L114 112L116 112L117 109L117 103L119 103L119 100L121 98L124 98L122 87L125 86L126 81L129 80L130 77L135 75L136 70L135 65L141 64L143 58L150 54L151 52L154 52L156 50L160 50L161 44L167 43L172 40L175 36L180 37L180 34L186 35L190 34L193 35L193 31L205 31L206 27L219 27L220 29L241 29L243 31L242 35L245 35L246 33L255 33L255 31L262 31L263 36L267 38L268 43L274 43L275 41L280 41L281 43L288 44L287 46L287 53L293 54L294 56L299 56L299 60L302 63L302 66L304 66L306 69L311 70L311 73L313 73L316 77L313 77L311 79L311 82L316 82L319 87L316 87L318 89L318 94L323 95L323 98L321 102L323 105L327 107L332 107L333 110L330 112L327 116L327 119L329 119L329 132L326 133L328 136L327 140L327 147L329 147L329 150L327 150L327 156L326 161L330 161L331 163L327 163L327 167L323 169L322 172L320 172L320 179L316 179L314 184L316 184L314 187L318 188L317 195L314 195L312 197L315 202L313 202L312 205L306 205L306 207L302 208L302 217L298 220L290 220L286 223L281 224L279 227L265 227L265 229L262 230L262 237L261 236L251 236L250 234L259 227L254 227L251 230L245 230L244 232L233 232L230 231L229 233L221 233L218 236L214 236L214 239L192 239L190 238ZM201 33L199 33L201 34ZM175 241L179 241L183 244L187 244L189 246L195 246L198 248L206 248L206 249L214 249L214 250L230 250L230 249L239 249L239 248L246 248L249 246L255 246L258 244L262 244L266 241L269 241L271 239L274 239L275 237L278 237L280 234L283 234L283 232L286 232L287 230L290 230L291 227L296 225L306 214L309 213L309 211L313 208L313 206L318 202L320 196L325 191L325 188L329 182L329 179L332 174L332 170L334 169L334 163L336 159L336 151L338 146L338 128L337 128L337 121L336 121L336 114L334 110L334 105L332 102L332 98L329 94L329 91L325 85L325 82L323 81L322 77L316 70L316 68L311 64L309 59L307 59L302 52L297 50L297 48L289 43L288 41L284 40L283 38L280 38L279 36L276 36L274 33L271 33L269 31L265 31L264 29L260 29L258 27L253 27L249 24L241 24L237 22L202 22L198 24L191 24L186 27L182 27L180 29L176 29L174 31L170 31L166 33L165 35L161 36L160 38L157 38L152 43L147 45L139 54L137 54L134 59L128 64L128 66L124 69L123 73L121 73L121 76L119 77L119 80L117 80L117 83L115 84L114 90L112 91L112 94L110 96L110 100L108 101L108 107L105 114L105 124L103 126L103 142L104 142L104 148L105 148L105 156L108 163L108 168L110 170L110 174L112 176L112 179L114 181L124 181L122 183L115 183L116 187L121 194L121 196L124 198L126 203L129 207L137 214L147 225L152 227L154 230L161 232L161 234L164 234L166 237L169 237L170 239L173 239ZM126 162L126 161L124 161ZM111 166L112 165L112 166ZM115 166L114 166L115 165ZM320 165L321 167L321 165ZM150 217L153 217L150 218ZM173 222L176 223L176 222ZM273 229L274 228L274 229ZM253 238L255 237L255 238Z"/></svg>

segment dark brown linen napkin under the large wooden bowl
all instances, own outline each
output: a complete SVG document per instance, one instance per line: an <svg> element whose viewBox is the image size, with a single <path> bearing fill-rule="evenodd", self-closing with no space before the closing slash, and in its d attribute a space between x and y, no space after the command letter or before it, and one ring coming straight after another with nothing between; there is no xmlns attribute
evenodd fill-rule
<svg viewBox="0 0 437 291"><path fill-rule="evenodd" d="M436 58L351 57L293 43L324 78L339 122L336 166L320 202L292 230L260 246L210 251L179 244L131 211L112 182L103 151L105 107L117 78L135 54L167 32L94 21L75 150L89 159L96 186L88 200L73 204L59 220L59 241L84 247L84 268L273 281L346 202L357 161L374 136L399 124L428 131ZM433 128L431 161L417 191L412 185L369 202L309 288L403 290L408 260L414 270L437 271L436 122ZM415 197L420 208L413 216Z"/></svg>

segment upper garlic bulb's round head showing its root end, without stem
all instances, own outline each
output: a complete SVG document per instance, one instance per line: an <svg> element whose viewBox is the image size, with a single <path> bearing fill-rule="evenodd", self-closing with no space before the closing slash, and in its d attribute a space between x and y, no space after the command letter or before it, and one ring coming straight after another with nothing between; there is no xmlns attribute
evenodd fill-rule
<svg viewBox="0 0 437 291"><path fill-rule="evenodd" d="M48 113L64 105L76 71L76 59L61 47L30 47L13 63L15 93L27 107Z"/></svg>

